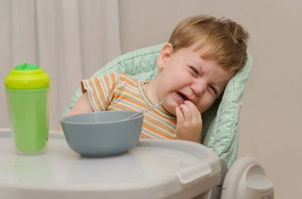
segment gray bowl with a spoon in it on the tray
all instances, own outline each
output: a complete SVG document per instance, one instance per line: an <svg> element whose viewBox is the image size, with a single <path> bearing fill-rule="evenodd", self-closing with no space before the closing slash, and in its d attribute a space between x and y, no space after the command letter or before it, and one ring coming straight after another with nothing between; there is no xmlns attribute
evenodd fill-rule
<svg viewBox="0 0 302 199"><path fill-rule="evenodd" d="M101 111L71 115L60 121L69 147L84 156L126 153L139 140L143 114L126 121L135 111Z"/></svg>

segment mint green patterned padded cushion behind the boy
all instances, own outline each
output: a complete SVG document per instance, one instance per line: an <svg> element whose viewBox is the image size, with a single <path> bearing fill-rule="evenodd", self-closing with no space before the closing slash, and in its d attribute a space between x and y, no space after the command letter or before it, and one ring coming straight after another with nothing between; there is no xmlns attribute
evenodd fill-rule
<svg viewBox="0 0 302 199"><path fill-rule="evenodd" d="M153 80L158 72L157 58L163 45L151 46L121 55L98 70L92 77L120 72L139 80ZM252 57L248 54L246 66L236 73L226 86L223 95L202 114L202 144L219 157L224 158L229 167L237 159L240 109L252 65ZM79 87L72 96L69 106L64 110L63 116L70 111L81 95L82 91Z"/></svg>

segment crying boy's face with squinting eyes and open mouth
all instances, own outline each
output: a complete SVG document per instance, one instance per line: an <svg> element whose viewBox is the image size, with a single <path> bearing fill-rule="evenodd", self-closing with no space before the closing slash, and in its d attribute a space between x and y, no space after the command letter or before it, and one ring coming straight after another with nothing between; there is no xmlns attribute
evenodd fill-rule
<svg viewBox="0 0 302 199"><path fill-rule="evenodd" d="M166 98L163 107L171 114L176 114L175 108L184 104L184 100L193 102L203 113L235 75L235 71L226 70L215 61L202 59L200 56L207 48L194 51L197 45L172 53L172 45L166 44L159 55L159 73L155 78L157 98Z"/></svg>

